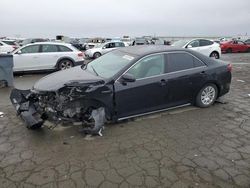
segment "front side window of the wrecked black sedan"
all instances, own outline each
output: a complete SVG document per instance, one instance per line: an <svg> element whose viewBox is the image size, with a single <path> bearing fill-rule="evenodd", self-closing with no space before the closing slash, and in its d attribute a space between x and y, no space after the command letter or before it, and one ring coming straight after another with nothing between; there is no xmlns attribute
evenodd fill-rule
<svg viewBox="0 0 250 188"><path fill-rule="evenodd" d="M152 55L137 62L128 73L136 79L156 76L164 73L164 55Z"/></svg>

